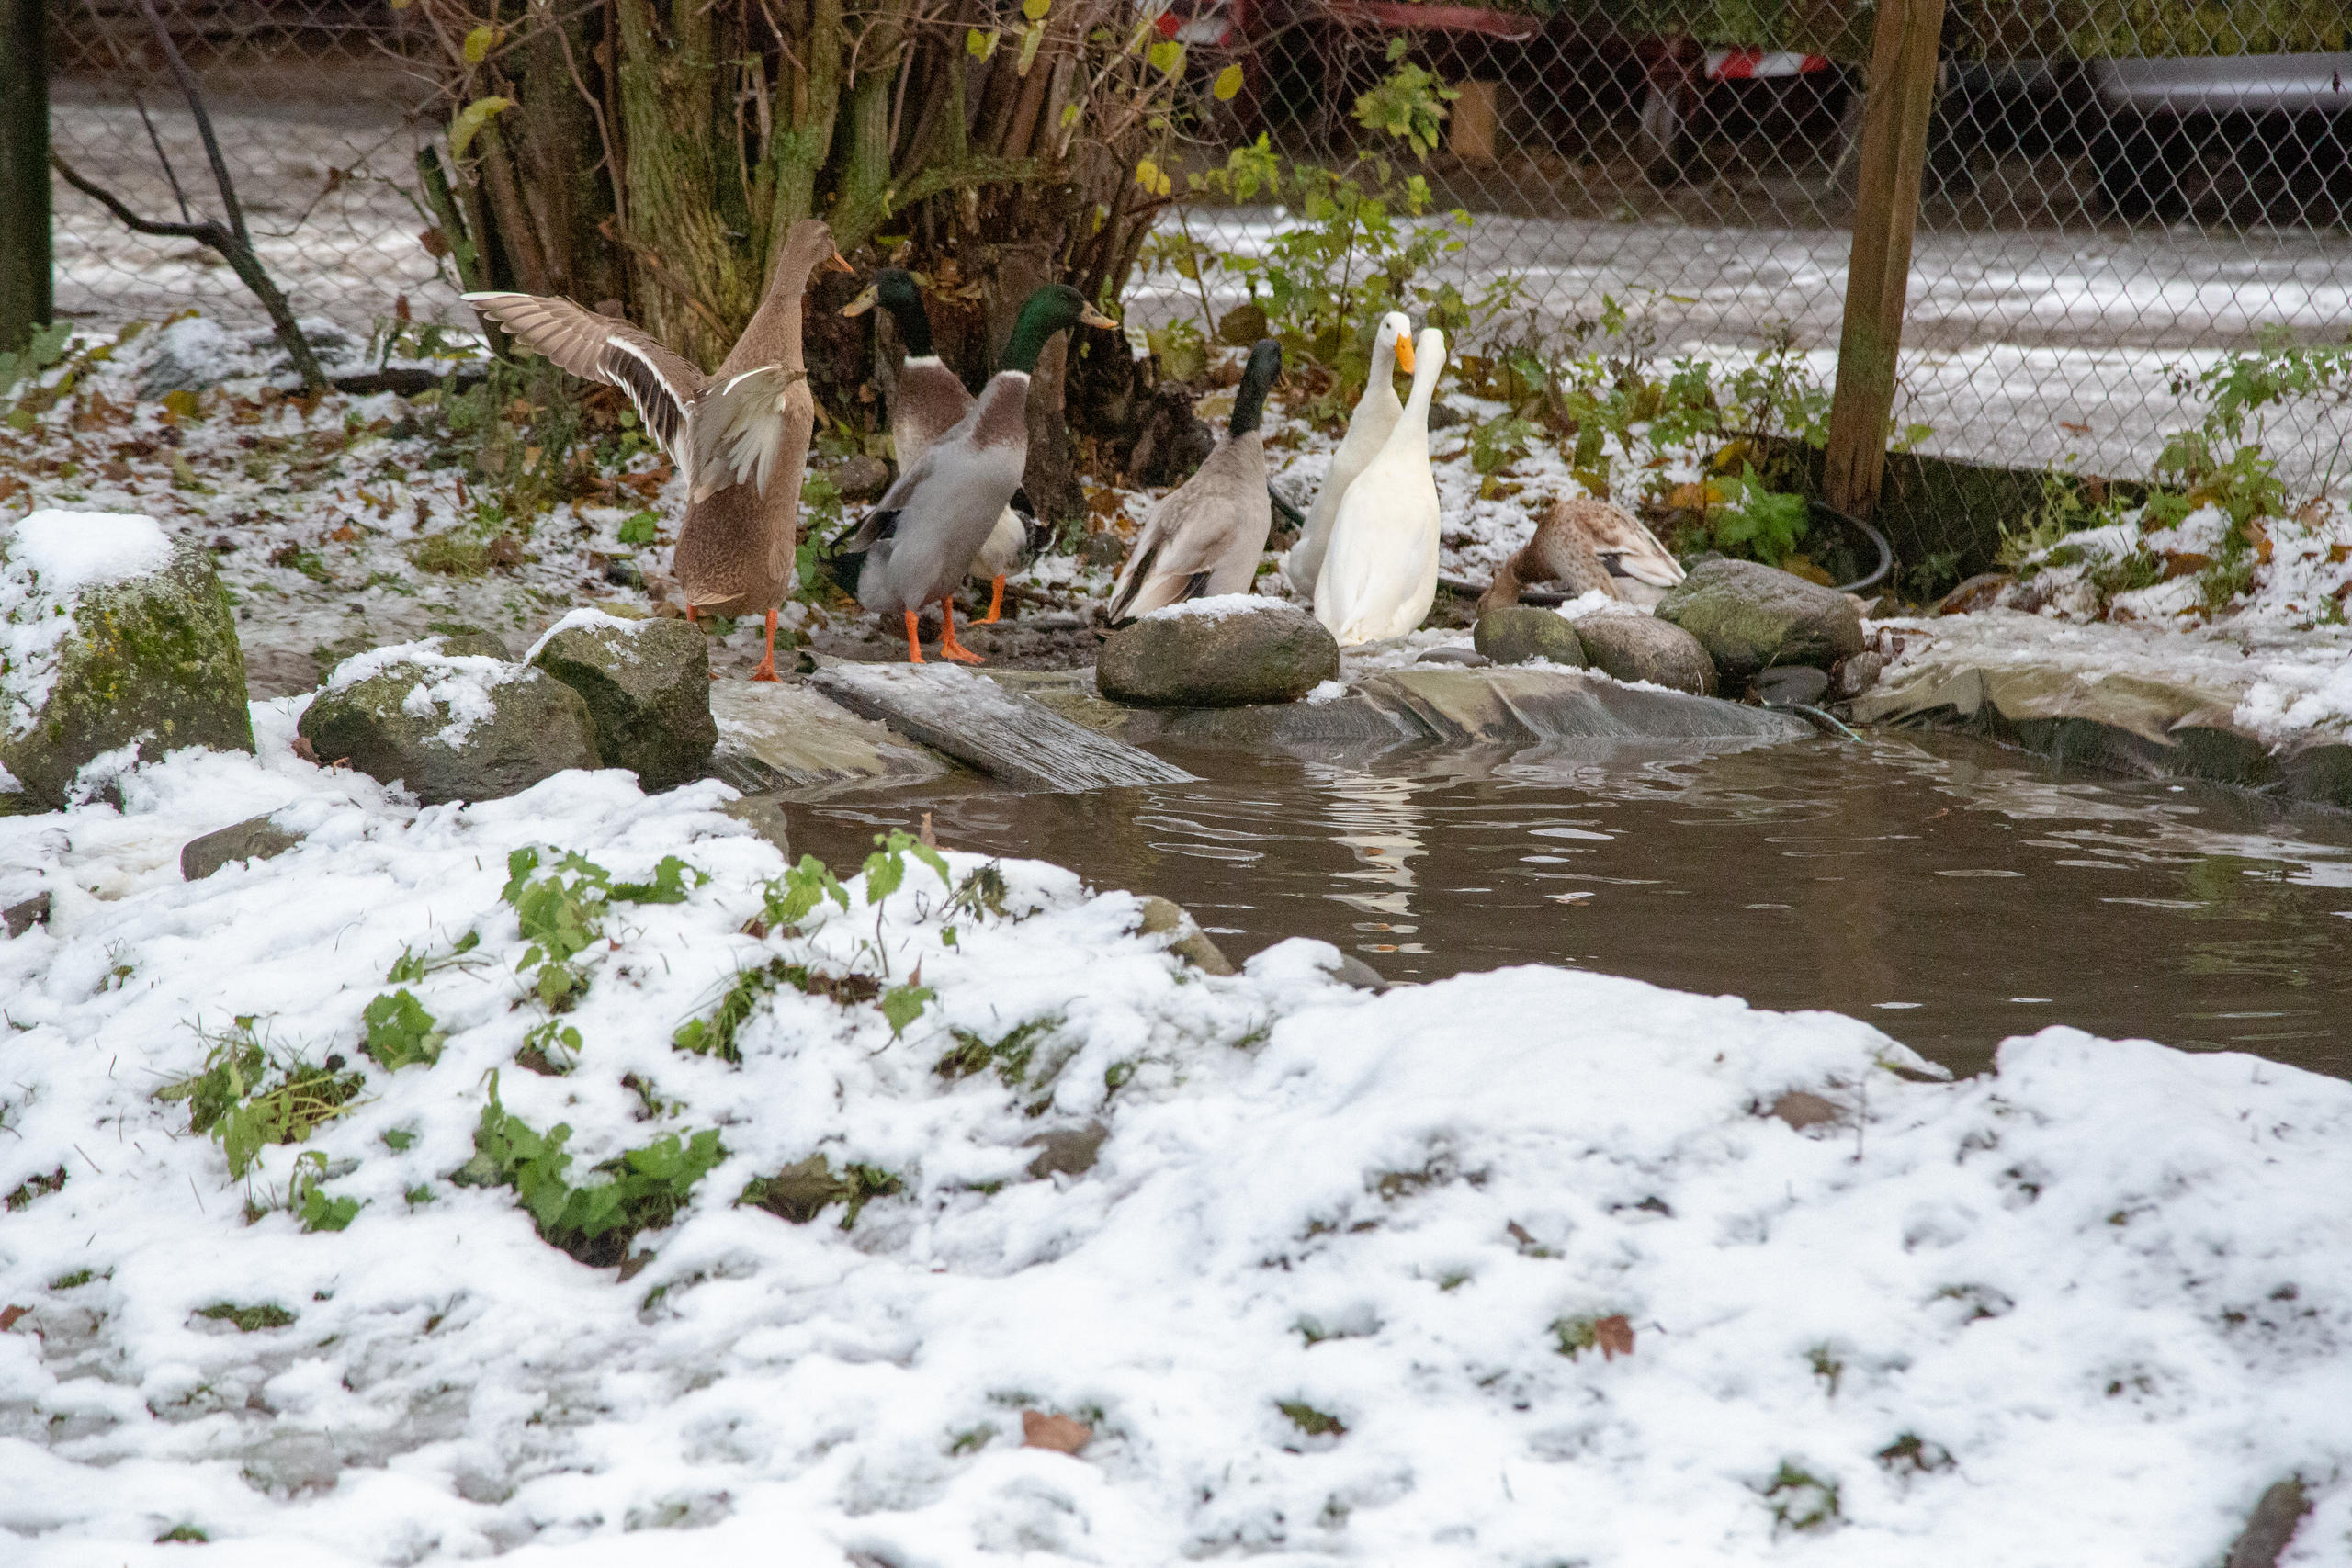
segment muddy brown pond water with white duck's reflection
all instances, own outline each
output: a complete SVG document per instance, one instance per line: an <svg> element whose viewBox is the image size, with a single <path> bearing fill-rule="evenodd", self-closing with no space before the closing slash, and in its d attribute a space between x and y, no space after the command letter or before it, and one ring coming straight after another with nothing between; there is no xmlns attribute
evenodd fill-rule
<svg viewBox="0 0 2352 1568"><path fill-rule="evenodd" d="M1691 750L1164 750L1200 783L788 809L856 863L934 813L1183 903L1235 961L1317 936L1390 980L1571 964L1867 1018L1955 1072L2074 1025L2352 1077L2352 816L2065 773L1945 733Z"/></svg>

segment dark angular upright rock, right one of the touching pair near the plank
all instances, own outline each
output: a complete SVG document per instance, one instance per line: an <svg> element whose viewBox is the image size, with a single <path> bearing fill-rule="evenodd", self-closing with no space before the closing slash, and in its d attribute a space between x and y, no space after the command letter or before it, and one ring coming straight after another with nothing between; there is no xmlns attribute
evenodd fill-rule
<svg viewBox="0 0 2352 1568"><path fill-rule="evenodd" d="M689 623L576 609L539 639L532 663L581 693L597 757L633 771L647 795L703 776L720 729L710 642Z"/></svg>

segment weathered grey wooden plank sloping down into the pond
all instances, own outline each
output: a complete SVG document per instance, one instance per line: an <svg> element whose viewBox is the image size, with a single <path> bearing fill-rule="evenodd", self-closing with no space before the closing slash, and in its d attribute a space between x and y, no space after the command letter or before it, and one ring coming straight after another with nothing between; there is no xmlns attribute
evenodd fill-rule
<svg viewBox="0 0 2352 1568"><path fill-rule="evenodd" d="M1016 790L1192 783L1192 773L1150 752L955 665L828 663L809 684L849 712L882 719L908 741Z"/></svg>

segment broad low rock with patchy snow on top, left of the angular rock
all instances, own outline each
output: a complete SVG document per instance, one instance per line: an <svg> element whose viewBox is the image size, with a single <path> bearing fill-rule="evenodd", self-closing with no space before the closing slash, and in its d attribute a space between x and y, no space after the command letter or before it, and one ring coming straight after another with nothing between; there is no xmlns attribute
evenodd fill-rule
<svg viewBox="0 0 2352 1568"><path fill-rule="evenodd" d="M532 665L452 658L423 642L346 658L299 731L322 764L350 762L428 806L602 766L579 691Z"/></svg>

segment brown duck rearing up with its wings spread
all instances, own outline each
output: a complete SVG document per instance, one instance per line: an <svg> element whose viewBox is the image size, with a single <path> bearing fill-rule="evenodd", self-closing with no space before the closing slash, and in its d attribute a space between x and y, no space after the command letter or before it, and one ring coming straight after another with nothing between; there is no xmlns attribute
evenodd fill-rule
<svg viewBox="0 0 2352 1568"><path fill-rule="evenodd" d="M800 480L816 397L800 348L800 296L818 268L854 270L823 219L783 235L767 299L706 376L661 339L614 315L543 294L466 294L534 353L586 381L621 388L654 442L687 477L687 517L670 571L699 616L767 616L755 682L776 677L776 611L793 588Z"/></svg>

